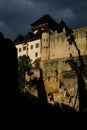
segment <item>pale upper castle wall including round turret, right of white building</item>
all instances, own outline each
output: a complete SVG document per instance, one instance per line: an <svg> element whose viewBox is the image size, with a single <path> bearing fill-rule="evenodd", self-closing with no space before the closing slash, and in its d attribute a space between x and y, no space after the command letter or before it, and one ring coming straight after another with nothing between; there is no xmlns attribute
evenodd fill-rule
<svg viewBox="0 0 87 130"><path fill-rule="evenodd" d="M87 28L73 30L76 45L80 50L81 55L87 55ZM69 45L67 41L66 32L52 33L49 35L49 44L43 42L43 39L48 36L42 35L42 54L41 60L68 58L70 53L75 57L78 56L78 51L74 46Z"/></svg>

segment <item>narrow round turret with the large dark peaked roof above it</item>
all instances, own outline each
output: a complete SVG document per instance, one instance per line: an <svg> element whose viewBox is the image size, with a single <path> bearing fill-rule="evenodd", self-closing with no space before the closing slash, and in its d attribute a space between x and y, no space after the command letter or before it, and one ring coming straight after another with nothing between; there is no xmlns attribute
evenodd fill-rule
<svg viewBox="0 0 87 130"><path fill-rule="evenodd" d="M42 16L37 21L31 24L32 31L36 33L42 30L42 44L41 44L41 60L50 59L50 33L58 27L58 23L51 18L48 14Z"/></svg>

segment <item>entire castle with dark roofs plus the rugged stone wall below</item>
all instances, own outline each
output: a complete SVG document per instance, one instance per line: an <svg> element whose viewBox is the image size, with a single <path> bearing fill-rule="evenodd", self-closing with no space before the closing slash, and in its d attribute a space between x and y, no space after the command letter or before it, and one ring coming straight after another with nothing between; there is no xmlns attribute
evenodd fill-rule
<svg viewBox="0 0 87 130"><path fill-rule="evenodd" d="M26 36L19 35L14 40L18 57L28 55L32 64L36 59L40 59L49 102L52 101L50 96L53 96L55 102L70 104L70 94L72 97L70 105L73 106L78 79L74 72L71 73L71 68L65 61L70 57L70 54L77 57L78 51L67 40L66 32L69 27L63 20L58 24L48 14L36 20L31 26L32 32ZM87 55L87 27L72 29L72 31L80 54ZM61 80L68 91L59 88ZM67 98L66 95L69 97Z"/></svg>

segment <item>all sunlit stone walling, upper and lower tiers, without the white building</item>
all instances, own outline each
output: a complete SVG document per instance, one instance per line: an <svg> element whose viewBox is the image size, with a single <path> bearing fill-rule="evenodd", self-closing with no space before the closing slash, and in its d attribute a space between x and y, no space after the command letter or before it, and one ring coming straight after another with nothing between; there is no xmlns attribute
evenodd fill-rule
<svg viewBox="0 0 87 130"><path fill-rule="evenodd" d="M73 35L81 55L87 55L87 28L74 30ZM48 34L47 37L49 37ZM42 47L40 69L43 72L48 102L60 103L60 105L63 103L78 110L78 78L70 65L66 64L70 54L76 57L78 51L73 44L69 45L65 32L51 34L50 44ZM33 74L37 79L40 78L39 69L33 69ZM85 82L87 82L86 79ZM32 94L35 92L36 90Z"/></svg>

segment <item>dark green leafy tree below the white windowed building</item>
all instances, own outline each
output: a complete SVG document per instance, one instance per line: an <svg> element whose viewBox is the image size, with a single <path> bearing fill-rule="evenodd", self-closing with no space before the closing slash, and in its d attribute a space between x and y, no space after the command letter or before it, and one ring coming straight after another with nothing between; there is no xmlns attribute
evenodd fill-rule
<svg viewBox="0 0 87 130"><path fill-rule="evenodd" d="M29 56L23 55L18 58L18 81L20 89L25 86L25 72L32 67Z"/></svg>

